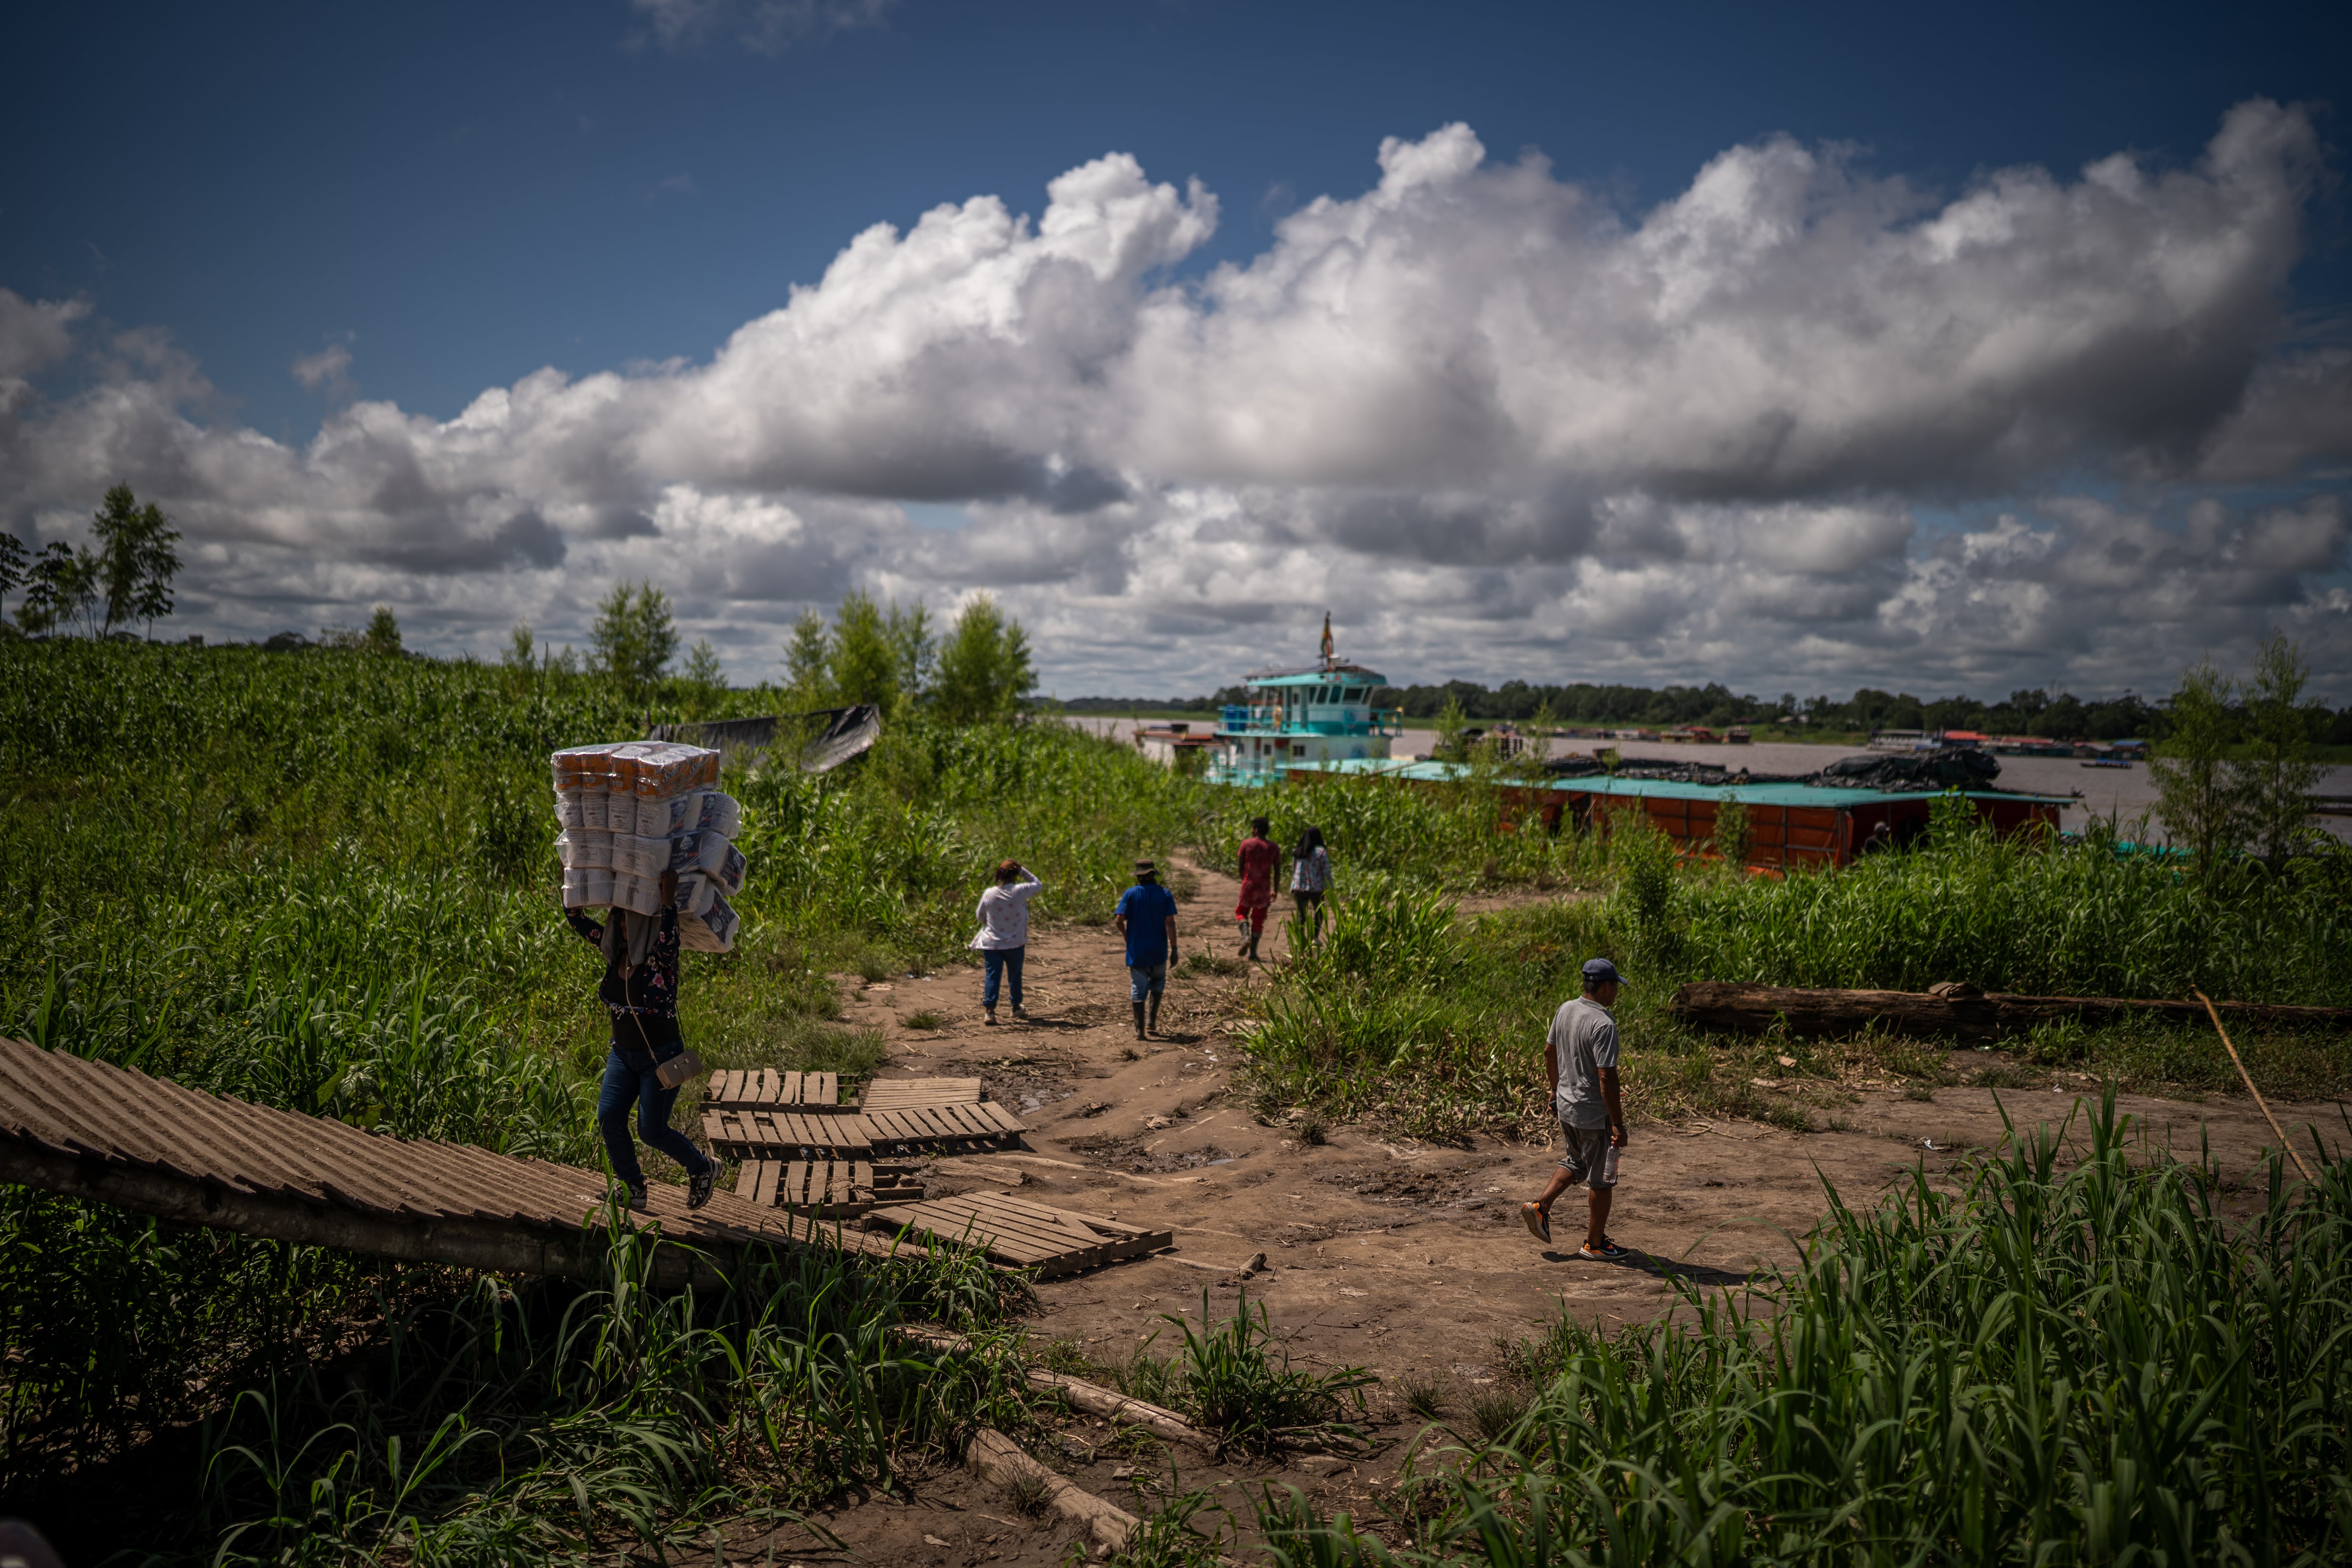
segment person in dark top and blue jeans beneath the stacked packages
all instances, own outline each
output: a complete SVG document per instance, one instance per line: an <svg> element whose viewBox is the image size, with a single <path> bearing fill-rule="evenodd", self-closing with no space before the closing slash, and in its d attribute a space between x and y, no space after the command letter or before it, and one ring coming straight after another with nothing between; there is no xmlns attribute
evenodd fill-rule
<svg viewBox="0 0 2352 1568"><path fill-rule="evenodd" d="M612 1053L604 1058L604 1091L595 1124L604 1133L612 1173L628 1187L628 1206L644 1208L644 1168L628 1138L628 1107L637 1107L637 1138L687 1168L687 1208L710 1201L720 1175L715 1159L670 1126L677 1088L663 1088L656 1070L687 1048L677 1032L677 872L661 875L661 914L612 910L600 926L581 910L564 919L604 954L597 997L612 1016Z"/></svg>

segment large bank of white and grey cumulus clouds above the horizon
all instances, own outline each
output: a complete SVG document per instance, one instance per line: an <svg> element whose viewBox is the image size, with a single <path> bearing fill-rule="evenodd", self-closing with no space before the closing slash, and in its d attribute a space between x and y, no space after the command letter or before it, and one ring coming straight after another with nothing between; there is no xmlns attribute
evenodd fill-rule
<svg viewBox="0 0 2352 1568"><path fill-rule="evenodd" d="M329 343L294 374L348 402L301 444L162 334L0 289L0 522L125 480L240 632L365 597L487 649L652 576L741 675L847 585L1000 592L1065 691L1216 684L1327 607L1430 677L2145 686L2270 623L2352 668L2352 360L2288 343L2319 174L2256 101L2187 167L1933 195L1764 139L1630 214L1451 125L1188 280L1216 197L1112 153L1035 216L854 235L701 362L433 418Z"/></svg>

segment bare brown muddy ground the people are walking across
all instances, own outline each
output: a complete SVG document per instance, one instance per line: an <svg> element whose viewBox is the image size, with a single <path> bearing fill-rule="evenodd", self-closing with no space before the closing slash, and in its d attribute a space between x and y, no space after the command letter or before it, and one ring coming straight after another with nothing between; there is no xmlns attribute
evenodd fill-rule
<svg viewBox="0 0 2352 1568"><path fill-rule="evenodd" d="M1200 891L1181 912L1190 952L1235 954L1237 884L1197 870ZM1279 959L1282 938L1261 947ZM1625 1265L1576 1258L1583 1199L1562 1199L1555 1244L1519 1222L1555 1152L1475 1138L1470 1147L1388 1140L1369 1128L1331 1128L1322 1145L1265 1124L1232 1091L1232 1023L1247 987L1265 976L1178 973L1169 983L1162 1039L1134 1037L1122 943L1108 926L1037 929L1028 950L1030 1023L981 1023L976 969L863 985L844 976L844 1020L882 1030L884 1077L978 1074L990 1098L1021 1114L1025 1150L938 1159L929 1192L1018 1190L1023 1197L1176 1232L1176 1248L1037 1286L1037 1340L1073 1340L1096 1361L1117 1361L1174 1328L1160 1314L1228 1316L1247 1291L1263 1302L1298 1363L1364 1366L1378 1458L1343 1465L1294 1455L1287 1465L1207 1465L1148 1443L1120 1446L1101 1422L1063 1432L1056 1467L1131 1512L1134 1486L1214 1488L1218 1505L1249 1519L1258 1481L1298 1486L1327 1509L1376 1516L1421 1418L1397 1382L1435 1380L1444 1413L1468 1418L1496 1380L1496 1345L1534 1335L1557 1312L1585 1321L1646 1319L1670 1307L1672 1276L1731 1286L1762 1262L1790 1262L1825 1208L1823 1182L1851 1201L1924 1166L1943 1175L1969 1150L2002 1138L2002 1105L2018 1124L2065 1121L2086 1074L2037 1074L2039 1088L1936 1088L1912 1100L1898 1084L1856 1088L1837 1112L1844 1131L1788 1133L1755 1121L1637 1126L1625 1150L1609 1232L1635 1255ZM908 1027L936 1013L941 1027ZM1000 1011L1009 1018L1009 1009ZM1541 1039L1526 1041L1541 1077ZM1994 1058L1971 1056L1983 1065ZM1851 1086L1849 1086L1851 1088ZM2152 1138L2194 1152L2209 1138L2225 1168L2244 1171L2274 1138L2251 1100L2122 1095ZM2312 1124L2343 1145L2333 1105L2274 1105L2291 1133ZM1265 1269L1237 1272L1265 1253ZM1207 1293L1207 1300L1204 1300ZM1094 1450L1089 1455L1089 1450ZM1131 1472L1131 1474L1122 1474ZM1075 1530L1054 1514L1025 1516L997 1488L960 1469L913 1476L903 1495L849 1502L821 1523L873 1563L1056 1563ZM842 1561L804 1533L729 1542L729 1556Z"/></svg>

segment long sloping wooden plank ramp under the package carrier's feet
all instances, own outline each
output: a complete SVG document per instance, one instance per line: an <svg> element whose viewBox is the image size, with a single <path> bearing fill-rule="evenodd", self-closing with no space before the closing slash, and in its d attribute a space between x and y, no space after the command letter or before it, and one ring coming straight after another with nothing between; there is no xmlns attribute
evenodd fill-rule
<svg viewBox="0 0 2352 1568"><path fill-rule="evenodd" d="M574 1279L604 1276L614 1215L597 1171L365 1133L21 1039L0 1039L0 1182L252 1237ZM891 1251L731 1192L687 1208L684 1187L656 1185L647 1213L619 1218L684 1244L656 1251L659 1284L715 1284L753 1248Z"/></svg>

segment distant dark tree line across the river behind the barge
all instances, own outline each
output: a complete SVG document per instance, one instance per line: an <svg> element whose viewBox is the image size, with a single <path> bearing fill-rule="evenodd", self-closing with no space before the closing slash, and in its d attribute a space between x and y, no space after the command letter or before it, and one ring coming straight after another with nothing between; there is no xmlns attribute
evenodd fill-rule
<svg viewBox="0 0 2352 1568"><path fill-rule="evenodd" d="M1063 703L1070 712L1124 712L1150 705L1171 712L1214 715L1225 703L1247 701L1242 686L1225 686L1214 696L1169 698L1167 703L1143 703L1138 698L1073 698ZM1724 684L1705 686L1597 686L1576 682L1569 686L1538 686L1529 682L1503 682L1482 686L1477 682L1446 682L1442 686L1381 686L1381 708L1397 708L1406 719L1435 722L1454 701L1470 722L1534 719L1550 710L1559 724L1604 729L1675 729L1705 724L1729 729L1733 724L1762 726L1788 724L1820 731L1867 733L1872 729L1973 729L1990 736L2039 736L2049 741L2161 741L2171 733L2171 698L2150 703L2126 691L2112 698L2079 698L2072 691L2051 696L2049 691L2011 691L1999 703L1983 703L1971 696L1917 698L1907 691L1877 691L1863 686L1846 701L1832 696L1797 698L1783 693L1778 701L1740 696ZM2244 703L2230 705L2232 712ZM2321 745L2352 745L2352 708L2328 710L2321 703L2298 708L2310 726L2312 741ZM2232 719L2239 729L2249 719Z"/></svg>

